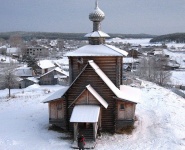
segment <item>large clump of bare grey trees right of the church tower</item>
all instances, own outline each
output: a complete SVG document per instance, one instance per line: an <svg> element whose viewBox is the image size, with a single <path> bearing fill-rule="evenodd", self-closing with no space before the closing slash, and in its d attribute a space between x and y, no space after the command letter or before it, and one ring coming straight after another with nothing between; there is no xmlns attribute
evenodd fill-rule
<svg viewBox="0 0 185 150"><path fill-rule="evenodd" d="M170 81L171 72L165 70L168 58L164 56L146 57L140 61L137 75L145 80L165 85Z"/></svg>

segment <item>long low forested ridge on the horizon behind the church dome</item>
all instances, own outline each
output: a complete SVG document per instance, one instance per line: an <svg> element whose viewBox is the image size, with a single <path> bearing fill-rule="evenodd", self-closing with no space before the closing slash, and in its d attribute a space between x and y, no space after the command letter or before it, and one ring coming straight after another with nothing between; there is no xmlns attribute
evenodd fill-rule
<svg viewBox="0 0 185 150"><path fill-rule="evenodd" d="M0 38L9 39L11 35L18 34L25 40L30 40L33 38L37 39L67 39L67 40L86 40L84 37L86 33L59 33L59 32L2 32L0 33ZM109 34L111 38L153 38L154 35L148 34Z"/></svg>

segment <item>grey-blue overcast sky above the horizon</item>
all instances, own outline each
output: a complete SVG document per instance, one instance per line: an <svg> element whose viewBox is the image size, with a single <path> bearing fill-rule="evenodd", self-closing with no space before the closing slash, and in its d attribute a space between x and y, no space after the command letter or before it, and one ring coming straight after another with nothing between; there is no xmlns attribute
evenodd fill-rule
<svg viewBox="0 0 185 150"><path fill-rule="evenodd" d="M88 33L95 0L0 0L0 32ZM185 0L99 0L102 30L121 34L185 32Z"/></svg>

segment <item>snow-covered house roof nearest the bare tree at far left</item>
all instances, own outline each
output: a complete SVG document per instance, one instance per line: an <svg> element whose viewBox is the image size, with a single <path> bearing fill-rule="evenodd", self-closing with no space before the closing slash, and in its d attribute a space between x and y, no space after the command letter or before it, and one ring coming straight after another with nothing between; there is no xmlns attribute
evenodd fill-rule
<svg viewBox="0 0 185 150"><path fill-rule="evenodd" d="M19 77L31 77L32 72L31 67L19 67L15 69L15 75Z"/></svg>

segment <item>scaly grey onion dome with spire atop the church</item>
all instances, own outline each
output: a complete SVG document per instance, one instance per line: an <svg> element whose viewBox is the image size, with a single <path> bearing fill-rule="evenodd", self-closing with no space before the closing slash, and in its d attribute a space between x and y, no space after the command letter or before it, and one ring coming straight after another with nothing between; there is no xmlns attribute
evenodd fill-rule
<svg viewBox="0 0 185 150"><path fill-rule="evenodd" d="M98 7L98 1L96 1L95 9L89 14L89 19L93 22L101 22L105 18L104 12Z"/></svg>

